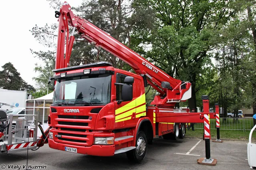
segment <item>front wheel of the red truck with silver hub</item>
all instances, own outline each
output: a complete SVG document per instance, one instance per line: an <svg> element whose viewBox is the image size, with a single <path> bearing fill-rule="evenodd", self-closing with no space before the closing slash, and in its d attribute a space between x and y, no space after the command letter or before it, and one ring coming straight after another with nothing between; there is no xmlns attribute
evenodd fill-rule
<svg viewBox="0 0 256 170"><path fill-rule="evenodd" d="M136 137L136 148L126 152L126 156L133 162L141 162L147 154L147 136L143 131L139 131Z"/></svg>

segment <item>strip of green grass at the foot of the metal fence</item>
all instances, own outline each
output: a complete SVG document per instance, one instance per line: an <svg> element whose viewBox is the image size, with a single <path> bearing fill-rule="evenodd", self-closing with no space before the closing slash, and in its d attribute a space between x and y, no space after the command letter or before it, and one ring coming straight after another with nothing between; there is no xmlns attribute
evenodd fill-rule
<svg viewBox="0 0 256 170"><path fill-rule="evenodd" d="M186 138L203 138L204 129L195 129L192 131L191 128L186 130ZM244 140L249 141L250 130L221 130L220 129L220 139L230 139L230 140ZM211 138L212 140L217 138L216 128L211 128ZM256 141L256 130L252 133L252 141Z"/></svg>

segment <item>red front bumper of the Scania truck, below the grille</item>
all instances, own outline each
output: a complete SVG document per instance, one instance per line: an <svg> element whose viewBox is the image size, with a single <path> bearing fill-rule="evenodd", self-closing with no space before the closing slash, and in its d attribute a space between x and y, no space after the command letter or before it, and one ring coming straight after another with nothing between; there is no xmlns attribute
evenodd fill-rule
<svg viewBox="0 0 256 170"><path fill-rule="evenodd" d="M52 139L48 139L48 144L50 148L57 149L57 150L64 150L65 146L71 148L77 148L77 153L79 154L87 154L87 155L94 155L94 156L113 156L115 154L115 145L96 145L93 144L92 146L77 146L71 144L63 144L54 142Z"/></svg>

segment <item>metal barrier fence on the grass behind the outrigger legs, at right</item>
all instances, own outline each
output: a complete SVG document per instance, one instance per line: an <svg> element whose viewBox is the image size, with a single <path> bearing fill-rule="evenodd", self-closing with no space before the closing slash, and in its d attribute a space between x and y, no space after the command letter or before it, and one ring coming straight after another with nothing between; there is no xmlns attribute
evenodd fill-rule
<svg viewBox="0 0 256 170"><path fill-rule="evenodd" d="M251 130L253 128L252 118L220 118L221 130ZM203 129L203 123L196 123L194 125L196 129ZM210 128L216 128L216 119L211 119Z"/></svg>

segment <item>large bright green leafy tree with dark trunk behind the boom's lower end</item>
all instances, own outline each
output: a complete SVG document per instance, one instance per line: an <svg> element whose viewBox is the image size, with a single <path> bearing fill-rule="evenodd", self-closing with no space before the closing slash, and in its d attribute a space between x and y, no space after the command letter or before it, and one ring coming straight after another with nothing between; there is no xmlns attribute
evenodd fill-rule
<svg viewBox="0 0 256 170"><path fill-rule="evenodd" d="M212 64L209 52L218 44L218 29L232 16L229 4L226 0L135 0L133 3L135 15L144 21L133 30L134 49L172 77L192 83L190 109L196 108L199 75ZM154 15L149 17L149 11ZM152 24L145 24L146 21Z"/></svg>

